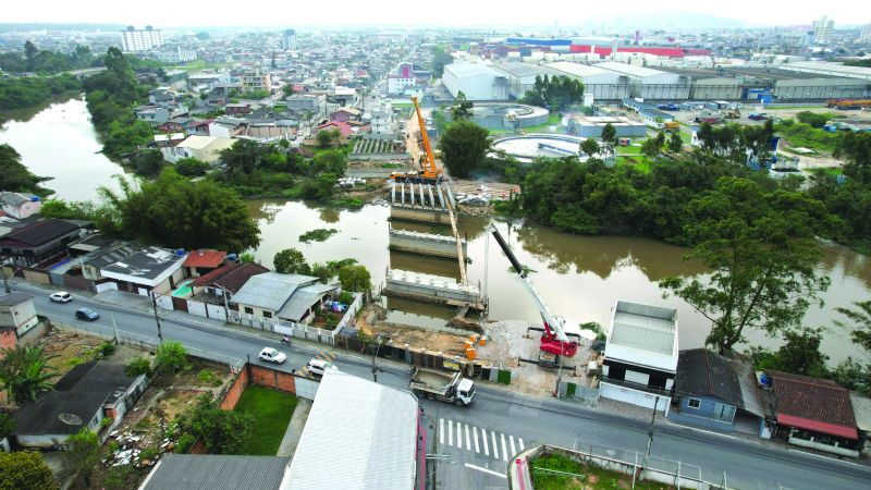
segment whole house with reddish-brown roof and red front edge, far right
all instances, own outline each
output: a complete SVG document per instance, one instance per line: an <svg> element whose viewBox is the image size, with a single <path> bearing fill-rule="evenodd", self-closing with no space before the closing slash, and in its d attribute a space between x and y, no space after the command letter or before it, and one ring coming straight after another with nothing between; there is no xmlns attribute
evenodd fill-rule
<svg viewBox="0 0 871 490"><path fill-rule="evenodd" d="M825 379L765 372L778 434L798 446L859 456L859 431L846 388Z"/></svg>

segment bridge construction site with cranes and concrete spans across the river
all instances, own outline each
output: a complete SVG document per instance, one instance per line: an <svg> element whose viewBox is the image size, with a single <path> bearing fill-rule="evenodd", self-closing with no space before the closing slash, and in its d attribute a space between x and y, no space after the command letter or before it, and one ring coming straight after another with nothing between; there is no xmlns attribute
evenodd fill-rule
<svg viewBox="0 0 871 490"><path fill-rule="evenodd" d="M486 278L471 278L467 271L473 260L487 261L488 257L469 256L467 240L457 225L458 213L461 209L465 215L469 208L489 208L491 199L508 198L519 189L444 179L417 100L415 108L410 122L417 126L409 123L407 143L419 143L419 147L408 148L408 154L418 156L419 169L395 170L388 179L390 262L379 291L381 301L358 315L355 328L364 338L378 338L394 346L510 371L511 384L532 394L552 394L557 379L594 384L594 377L587 373L598 372L600 356L591 348L596 334L581 336L579 328L554 316L499 230L480 223L488 244L492 235L542 320L489 321L489 299L481 282ZM500 254L495 248L493 253ZM413 321L408 314L391 315L397 304L401 308L429 305L428 321Z"/></svg>

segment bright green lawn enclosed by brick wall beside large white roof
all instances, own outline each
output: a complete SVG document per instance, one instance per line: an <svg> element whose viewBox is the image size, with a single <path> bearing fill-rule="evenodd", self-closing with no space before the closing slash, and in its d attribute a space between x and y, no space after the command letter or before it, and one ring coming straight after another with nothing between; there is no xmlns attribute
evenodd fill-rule
<svg viewBox="0 0 871 490"><path fill-rule="evenodd" d="M252 437L240 454L274 456L287 430L296 396L263 387L250 385L242 393L236 412L254 417Z"/></svg>

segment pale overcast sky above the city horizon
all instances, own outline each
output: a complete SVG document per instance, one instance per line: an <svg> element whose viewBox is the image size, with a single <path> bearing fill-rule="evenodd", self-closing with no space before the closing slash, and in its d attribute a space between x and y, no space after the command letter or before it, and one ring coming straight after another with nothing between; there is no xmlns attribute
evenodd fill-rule
<svg viewBox="0 0 871 490"><path fill-rule="evenodd" d="M119 23L176 26L310 25L547 25L586 27L602 16L700 13L753 25L808 25L829 14L835 26L871 22L867 0L238 0L119 2L116 0L4 0L0 22ZM663 27L667 27L664 25Z"/></svg>

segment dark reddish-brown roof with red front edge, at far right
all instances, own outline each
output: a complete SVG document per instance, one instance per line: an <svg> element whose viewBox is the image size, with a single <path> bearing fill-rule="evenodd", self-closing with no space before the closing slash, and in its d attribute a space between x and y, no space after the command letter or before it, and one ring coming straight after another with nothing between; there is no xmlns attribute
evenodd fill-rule
<svg viewBox="0 0 871 490"><path fill-rule="evenodd" d="M825 379L766 372L776 399L777 424L858 439L856 416L846 388Z"/></svg>

